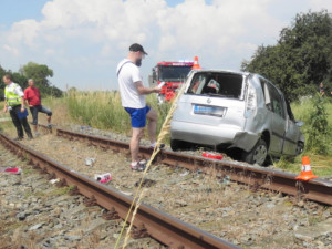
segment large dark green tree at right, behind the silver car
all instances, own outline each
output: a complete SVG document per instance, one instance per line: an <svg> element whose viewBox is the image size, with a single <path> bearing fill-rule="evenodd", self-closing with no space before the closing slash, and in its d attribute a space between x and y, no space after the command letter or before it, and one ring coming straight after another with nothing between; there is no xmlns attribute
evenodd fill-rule
<svg viewBox="0 0 332 249"><path fill-rule="evenodd" d="M332 19L326 10L297 14L280 32L276 45L261 45L241 70L256 72L276 83L294 100L312 94L322 81L332 80Z"/></svg>

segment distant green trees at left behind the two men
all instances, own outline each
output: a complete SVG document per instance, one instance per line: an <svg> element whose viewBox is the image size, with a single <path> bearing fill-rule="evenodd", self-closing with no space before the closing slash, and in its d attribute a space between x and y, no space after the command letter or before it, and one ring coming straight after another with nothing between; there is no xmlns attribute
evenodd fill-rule
<svg viewBox="0 0 332 249"><path fill-rule="evenodd" d="M48 65L29 62L28 64L20 68L19 72L11 72L4 70L0 65L0 101L3 101L4 95L4 83L2 76L4 74L11 74L13 82L18 83L23 90L28 87L28 80L33 79L35 86L40 90L42 96L54 96L61 97L62 91L56 86L52 85L48 77L53 76L53 70L49 69Z"/></svg>

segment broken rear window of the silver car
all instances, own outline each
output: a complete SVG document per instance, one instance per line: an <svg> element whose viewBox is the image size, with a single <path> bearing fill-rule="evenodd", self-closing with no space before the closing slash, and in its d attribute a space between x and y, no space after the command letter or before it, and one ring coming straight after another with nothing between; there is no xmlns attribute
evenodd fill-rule
<svg viewBox="0 0 332 249"><path fill-rule="evenodd" d="M242 75L232 73L196 73L187 94L240 98Z"/></svg>

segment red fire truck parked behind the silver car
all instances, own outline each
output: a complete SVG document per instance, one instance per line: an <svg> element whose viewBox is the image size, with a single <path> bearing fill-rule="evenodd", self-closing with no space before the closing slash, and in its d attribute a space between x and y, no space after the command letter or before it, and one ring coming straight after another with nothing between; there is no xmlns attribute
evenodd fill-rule
<svg viewBox="0 0 332 249"><path fill-rule="evenodd" d="M149 85L157 86L165 83L158 94L158 101L170 101L176 90L184 83L190 72L194 61L163 61L153 68Z"/></svg>

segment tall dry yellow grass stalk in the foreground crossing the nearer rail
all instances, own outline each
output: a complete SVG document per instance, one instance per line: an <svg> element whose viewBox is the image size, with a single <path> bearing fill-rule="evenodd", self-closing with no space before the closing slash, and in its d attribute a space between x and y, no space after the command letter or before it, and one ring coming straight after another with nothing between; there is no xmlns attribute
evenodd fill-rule
<svg viewBox="0 0 332 249"><path fill-rule="evenodd" d="M172 106L170 106L170 108L169 108L169 111L168 111L168 114L167 114L167 116L166 116L166 118L165 118L165 121L164 121L164 124L163 124L163 126L162 126L162 131L160 131L160 133L159 133L159 135L158 135L158 139L157 139L157 143L156 143L156 146L155 146L154 152L153 152L153 154L152 154L152 156L151 156L151 159L148 160L148 163L147 163L147 165L146 165L146 168L145 168L145 170L144 170L144 173L143 173L143 177L141 178L139 185L138 185L138 187L137 187L137 190L136 190L136 193L135 193L133 203L132 203L132 205L131 205L131 207L129 207L129 210L128 210L128 212L127 212L127 215L126 215L126 218L125 218L125 220L124 220L123 227L122 227L122 229L121 229L121 232L120 232L120 236L118 236L118 238L117 238L117 240L116 240L116 243L115 243L115 246L114 246L114 249L117 249L117 247L118 247L118 243L120 243L120 240L121 240L121 238L122 238L122 236L123 236L123 232L124 232L124 229L125 229L125 227L126 227L127 220L128 220L128 218L129 218L129 216L131 216L131 212L132 212L132 209L133 209L133 207L134 207L134 205L135 205L135 203L136 203L135 209L134 209L134 212L133 212L133 216L132 216L131 225L129 225L129 227L128 227L128 229L127 229L127 232L126 232L126 236L125 236L125 240L124 240L124 245L123 245L122 248L124 249L124 248L127 246L127 240L128 240L129 235L131 235L131 229L132 229L132 227L133 227L133 222L134 222L135 216L136 216L136 214L137 214L137 210L138 210L138 207L139 207L139 205L141 205L141 201L142 201L142 199L143 199L143 197L144 197L144 191L141 191L142 184L143 184L143 181L144 181L144 179L145 179L145 176L147 175L147 172L148 172L148 168L149 168L152 162L154 160L154 158L156 157L156 155L160 152L159 146L160 146L163 139L165 138L165 136L166 136L166 135L168 134L168 132L169 132L170 121L172 121L173 114L174 114L174 112L175 112L175 110L176 110L176 107L177 107L176 104L177 104L178 98L180 97L180 95L185 92L185 89L186 89L186 84L183 84L181 89L178 91L176 97L174 98L173 104L172 104ZM137 199L137 201L136 201L136 199Z"/></svg>

